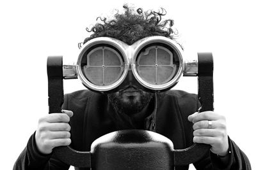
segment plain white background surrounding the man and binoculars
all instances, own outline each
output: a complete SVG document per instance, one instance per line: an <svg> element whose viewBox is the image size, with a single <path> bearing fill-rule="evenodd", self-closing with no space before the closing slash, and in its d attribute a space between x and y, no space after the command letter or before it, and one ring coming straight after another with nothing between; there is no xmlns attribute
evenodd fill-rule
<svg viewBox="0 0 256 170"><path fill-rule="evenodd" d="M189 56L213 53L215 110L227 117L230 138L256 168L253 1L10 0L0 3L0 169L12 169L38 118L47 114L47 56L76 62L77 43L89 35L85 28L98 16L122 10L125 2L144 10L165 8ZM65 92L78 89L84 89L79 80L65 81ZM196 92L196 78L182 78L175 89Z"/></svg>

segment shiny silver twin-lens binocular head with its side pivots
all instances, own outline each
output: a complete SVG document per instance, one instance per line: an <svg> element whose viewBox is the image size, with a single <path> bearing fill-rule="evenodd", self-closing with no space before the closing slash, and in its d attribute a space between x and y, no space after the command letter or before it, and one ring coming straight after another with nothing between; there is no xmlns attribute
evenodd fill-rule
<svg viewBox="0 0 256 170"><path fill-rule="evenodd" d="M132 45L115 39L94 38L83 45L76 66L64 65L65 79L77 78L90 90L118 89L129 71L145 90L171 89L180 76L196 76L197 62L184 62L180 46L163 36L150 36Z"/></svg>

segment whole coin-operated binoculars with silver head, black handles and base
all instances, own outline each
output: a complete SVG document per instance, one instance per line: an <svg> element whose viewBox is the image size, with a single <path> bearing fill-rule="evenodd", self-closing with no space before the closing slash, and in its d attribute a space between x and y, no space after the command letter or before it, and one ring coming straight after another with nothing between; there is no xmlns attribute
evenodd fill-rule
<svg viewBox="0 0 256 170"><path fill-rule="evenodd" d="M180 46L171 39L152 36L129 46L113 38L95 38L84 44L77 64L63 65L61 56L48 57L49 113L61 112L63 79L79 78L95 92L118 91L132 74L134 83L149 92L169 90L180 76L198 77L200 111L213 110L211 53L185 62ZM174 150L170 139L156 132L124 130L96 139L90 152L70 146L55 148L57 157L76 167L92 169L175 169L202 159L210 146L193 144Z"/></svg>

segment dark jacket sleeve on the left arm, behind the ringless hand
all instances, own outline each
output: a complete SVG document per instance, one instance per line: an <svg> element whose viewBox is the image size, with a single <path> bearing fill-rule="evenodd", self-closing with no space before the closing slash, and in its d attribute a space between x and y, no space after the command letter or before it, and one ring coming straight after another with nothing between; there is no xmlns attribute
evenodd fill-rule
<svg viewBox="0 0 256 170"><path fill-rule="evenodd" d="M65 96L65 98L67 98ZM67 109L67 100L64 99L63 109ZM69 165L58 160L54 154L44 155L40 153L36 146L35 132L29 138L26 148L20 153L16 160L13 170L55 170L69 169Z"/></svg>

